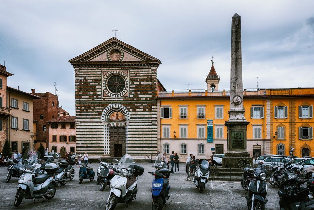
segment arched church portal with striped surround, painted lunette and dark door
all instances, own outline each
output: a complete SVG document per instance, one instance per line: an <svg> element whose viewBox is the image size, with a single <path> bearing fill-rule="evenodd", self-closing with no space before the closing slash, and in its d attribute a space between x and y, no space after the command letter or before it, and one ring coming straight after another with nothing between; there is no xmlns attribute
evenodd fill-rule
<svg viewBox="0 0 314 210"><path fill-rule="evenodd" d="M104 150L111 157L128 154L128 124L130 114L123 105L108 105L101 116L104 122Z"/></svg>

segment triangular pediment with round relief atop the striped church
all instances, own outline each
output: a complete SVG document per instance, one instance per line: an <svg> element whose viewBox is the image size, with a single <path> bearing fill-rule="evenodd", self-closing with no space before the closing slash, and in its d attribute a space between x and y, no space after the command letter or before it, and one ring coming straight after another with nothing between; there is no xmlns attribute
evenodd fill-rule
<svg viewBox="0 0 314 210"><path fill-rule="evenodd" d="M153 61L161 63L159 59L146 54L116 37L113 37L97 47L71 60L73 62L119 62L119 61Z"/></svg>

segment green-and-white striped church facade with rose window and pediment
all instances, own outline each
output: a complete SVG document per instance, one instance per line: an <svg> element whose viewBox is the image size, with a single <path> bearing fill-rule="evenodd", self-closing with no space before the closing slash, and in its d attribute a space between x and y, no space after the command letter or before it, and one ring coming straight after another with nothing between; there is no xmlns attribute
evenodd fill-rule
<svg viewBox="0 0 314 210"><path fill-rule="evenodd" d="M143 158L160 150L160 60L113 37L69 62L75 72L76 153Z"/></svg>

